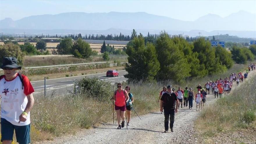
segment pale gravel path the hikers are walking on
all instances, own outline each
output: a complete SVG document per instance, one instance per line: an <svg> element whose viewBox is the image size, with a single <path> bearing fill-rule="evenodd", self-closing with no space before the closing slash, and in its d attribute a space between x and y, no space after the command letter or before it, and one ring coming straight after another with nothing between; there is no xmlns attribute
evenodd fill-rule
<svg viewBox="0 0 256 144"><path fill-rule="evenodd" d="M249 77L255 74L250 72ZM236 83L233 83L235 88ZM216 98L217 99L217 98ZM207 95L206 105L216 101L214 95ZM195 137L194 120L199 116L200 112L195 110L195 102L193 101L193 109L188 107L180 108L175 115L174 132L163 133L164 131L164 115L159 112L152 112L147 115L133 117L130 126L126 129L116 129L118 125L113 123L102 123L93 129L83 129L76 135L61 136L54 141L44 141L38 143L64 143L64 144L83 144L83 143L202 143Z"/></svg>

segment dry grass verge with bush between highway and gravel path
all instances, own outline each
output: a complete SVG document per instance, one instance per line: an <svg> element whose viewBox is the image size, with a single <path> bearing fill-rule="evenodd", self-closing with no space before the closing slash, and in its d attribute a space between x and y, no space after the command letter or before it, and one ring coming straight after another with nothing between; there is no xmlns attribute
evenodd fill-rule
<svg viewBox="0 0 256 144"><path fill-rule="evenodd" d="M237 71L245 70L247 65L234 64ZM234 72L230 69L226 74ZM171 84L174 88L188 86L194 88L198 83L205 83L207 79L225 77L225 74L216 74L201 79L193 78L184 83L176 83L171 80L157 83L130 82L123 83L123 87L129 85L131 93L135 97L134 109L140 115L158 111L158 95L163 86ZM113 120L112 102L109 100L116 89L116 85L98 79L82 79L79 90L66 92L66 95L54 93L44 97L37 95L35 105L31 111L31 138L33 141L51 140L55 136L74 134L79 129L97 126L102 122ZM51 108L51 109L49 109ZM49 111L51 111L49 113ZM132 113L132 116L136 116ZM116 119L116 117L115 117Z"/></svg>

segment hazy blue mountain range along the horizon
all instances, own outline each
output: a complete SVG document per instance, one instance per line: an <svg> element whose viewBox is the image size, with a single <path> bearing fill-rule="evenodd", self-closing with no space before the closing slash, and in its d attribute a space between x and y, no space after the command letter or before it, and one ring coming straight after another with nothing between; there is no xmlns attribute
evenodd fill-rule
<svg viewBox="0 0 256 144"><path fill-rule="evenodd" d="M126 31L129 31L130 34L132 29L136 29L138 32L157 32L157 34L161 30L171 32L169 34L175 32L175 34L194 33L193 35L199 35L199 32L201 32L200 35L206 34L204 36L218 31L217 33L226 34L227 32L229 35L235 33L239 37L256 38L256 14L239 11L224 18L208 14L195 21L182 21L144 12L73 12L57 15L35 15L16 21L5 18L0 21L1 33L19 33L19 31L23 33L25 31L31 34L48 34L49 32L61 34L77 31L77 33L92 34L92 32L97 33L97 31L98 33L104 31L126 33ZM217 33L214 35L217 35Z"/></svg>

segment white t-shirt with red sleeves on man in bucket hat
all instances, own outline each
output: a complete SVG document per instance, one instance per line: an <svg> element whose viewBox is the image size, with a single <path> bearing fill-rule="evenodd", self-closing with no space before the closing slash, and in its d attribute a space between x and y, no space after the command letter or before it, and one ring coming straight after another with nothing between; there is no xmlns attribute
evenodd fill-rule
<svg viewBox="0 0 256 144"><path fill-rule="evenodd" d="M22 75L24 88L22 90L22 83L17 76L7 81L5 78L0 80L0 96L1 101L1 118L6 119L13 125L25 126L30 124L30 113L28 113L27 120L25 122L19 122L19 116L25 110L28 99L26 95L34 92L34 89L28 79L28 77Z"/></svg>

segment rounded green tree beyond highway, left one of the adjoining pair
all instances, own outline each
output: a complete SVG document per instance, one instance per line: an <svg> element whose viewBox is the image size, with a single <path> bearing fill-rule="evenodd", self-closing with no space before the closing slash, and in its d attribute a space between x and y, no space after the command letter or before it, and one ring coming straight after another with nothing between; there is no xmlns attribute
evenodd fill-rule
<svg viewBox="0 0 256 144"><path fill-rule="evenodd" d="M58 54L71 54L72 46L72 38L65 38L57 45L57 52Z"/></svg>

